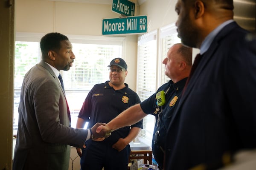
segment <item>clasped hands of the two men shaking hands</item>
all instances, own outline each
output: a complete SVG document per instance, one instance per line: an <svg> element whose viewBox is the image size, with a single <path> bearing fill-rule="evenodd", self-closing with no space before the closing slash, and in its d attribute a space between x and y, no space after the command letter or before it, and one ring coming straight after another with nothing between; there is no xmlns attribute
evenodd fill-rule
<svg viewBox="0 0 256 170"><path fill-rule="evenodd" d="M90 139L102 141L108 136L111 136L113 130L109 129L105 123L96 123L92 128L90 128L90 132Z"/></svg>

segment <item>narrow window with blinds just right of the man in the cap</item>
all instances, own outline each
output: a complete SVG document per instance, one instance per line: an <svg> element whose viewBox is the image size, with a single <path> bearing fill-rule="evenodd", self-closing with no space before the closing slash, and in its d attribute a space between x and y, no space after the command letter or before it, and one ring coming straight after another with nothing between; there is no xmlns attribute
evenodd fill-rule
<svg viewBox="0 0 256 170"><path fill-rule="evenodd" d="M147 99L156 91L157 77L157 31L152 31L138 38L137 59L137 94L141 101ZM143 120L143 130L140 137L151 146L155 118L148 115Z"/></svg>

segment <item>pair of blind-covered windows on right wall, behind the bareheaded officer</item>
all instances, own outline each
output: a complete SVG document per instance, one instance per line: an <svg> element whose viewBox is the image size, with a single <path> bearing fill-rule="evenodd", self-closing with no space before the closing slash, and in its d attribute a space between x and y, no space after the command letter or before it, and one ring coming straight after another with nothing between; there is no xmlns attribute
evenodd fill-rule
<svg viewBox="0 0 256 170"><path fill-rule="evenodd" d="M159 35L157 37L157 31L152 31L138 38L137 93L142 101L170 80L164 74L165 66L162 62L166 58L169 48L175 43L180 43L174 24L160 28ZM158 39L159 44L157 44ZM157 53L157 51L159 52ZM141 140L150 146L154 124L155 117L153 115L146 116L143 121L144 129L140 133Z"/></svg>

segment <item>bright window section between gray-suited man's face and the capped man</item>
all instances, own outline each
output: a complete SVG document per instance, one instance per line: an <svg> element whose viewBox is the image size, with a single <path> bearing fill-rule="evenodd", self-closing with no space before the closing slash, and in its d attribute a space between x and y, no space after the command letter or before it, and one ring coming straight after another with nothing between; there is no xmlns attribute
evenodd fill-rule
<svg viewBox="0 0 256 170"><path fill-rule="evenodd" d="M65 92L72 116L71 127L76 127L77 116L85 97L93 85L109 79L107 66L113 56L122 56L122 46L79 43L72 45L76 55L73 67L69 71L61 71L61 74L64 75Z"/></svg>

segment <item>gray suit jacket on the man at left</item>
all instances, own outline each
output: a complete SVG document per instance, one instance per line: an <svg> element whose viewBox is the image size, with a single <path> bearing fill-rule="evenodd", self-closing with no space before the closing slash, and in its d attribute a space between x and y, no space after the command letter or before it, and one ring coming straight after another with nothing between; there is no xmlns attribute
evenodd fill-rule
<svg viewBox="0 0 256 170"><path fill-rule="evenodd" d="M70 146L82 147L87 130L70 127L58 77L44 61L25 75L13 170L68 170Z"/></svg>

